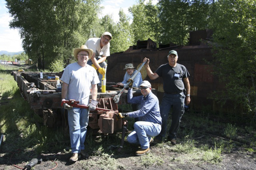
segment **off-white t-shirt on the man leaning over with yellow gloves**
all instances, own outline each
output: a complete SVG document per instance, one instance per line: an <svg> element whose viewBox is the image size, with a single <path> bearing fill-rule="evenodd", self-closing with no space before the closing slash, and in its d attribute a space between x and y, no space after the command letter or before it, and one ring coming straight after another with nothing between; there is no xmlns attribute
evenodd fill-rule
<svg viewBox="0 0 256 170"><path fill-rule="evenodd" d="M87 48L90 48L95 53L95 58L101 58L102 56L110 56L110 43L107 43L107 45L103 46L103 48L100 48L100 38L89 38L85 45Z"/></svg>

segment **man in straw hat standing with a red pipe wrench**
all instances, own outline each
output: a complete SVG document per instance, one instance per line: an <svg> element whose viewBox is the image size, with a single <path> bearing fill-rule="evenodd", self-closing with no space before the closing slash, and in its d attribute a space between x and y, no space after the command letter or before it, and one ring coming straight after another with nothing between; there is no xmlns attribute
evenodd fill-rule
<svg viewBox="0 0 256 170"><path fill-rule="evenodd" d="M80 105L88 105L89 110L95 110L98 101L97 84L100 82L96 70L87 64L92 57L93 50L88 49L86 45L74 49L74 57L77 62L69 64L61 77L63 100L73 99L79 101ZM91 86L91 103L89 103ZM70 162L75 162L82 156L88 154L84 151L84 141L86 136L86 127L89 120L89 111L85 108L72 108L65 103L63 108L68 110L68 125L70 132L70 143L72 156Z"/></svg>

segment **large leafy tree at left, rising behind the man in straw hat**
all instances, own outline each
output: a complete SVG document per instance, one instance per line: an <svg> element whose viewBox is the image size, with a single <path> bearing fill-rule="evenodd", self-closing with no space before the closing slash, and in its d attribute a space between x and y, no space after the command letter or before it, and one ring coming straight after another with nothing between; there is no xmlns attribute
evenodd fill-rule
<svg viewBox="0 0 256 170"><path fill-rule="evenodd" d="M53 60L74 61L72 52L81 46L100 10L100 0L6 0L14 18L11 28L19 29L23 48L39 68Z"/></svg>

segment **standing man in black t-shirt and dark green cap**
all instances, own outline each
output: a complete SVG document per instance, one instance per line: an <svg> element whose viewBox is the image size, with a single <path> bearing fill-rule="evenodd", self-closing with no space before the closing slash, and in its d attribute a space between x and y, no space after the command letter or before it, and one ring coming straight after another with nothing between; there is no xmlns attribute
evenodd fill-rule
<svg viewBox="0 0 256 170"><path fill-rule="evenodd" d="M184 65L178 64L178 53L171 50L168 55L168 63L163 64L153 73L149 67L149 59L144 58L146 62L147 75L151 80L158 77L163 78L163 90L165 91L160 105L160 113L162 117L162 130L155 138L155 142L161 142L165 137L167 129L168 114L172 107L172 124L168 132L167 141L175 145L177 132L181 122L181 117L184 114L184 100L186 98L186 105L190 103L190 84L188 80L188 70ZM186 96L184 94L186 89Z"/></svg>

